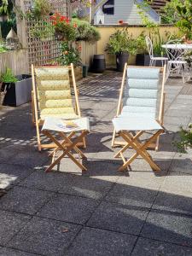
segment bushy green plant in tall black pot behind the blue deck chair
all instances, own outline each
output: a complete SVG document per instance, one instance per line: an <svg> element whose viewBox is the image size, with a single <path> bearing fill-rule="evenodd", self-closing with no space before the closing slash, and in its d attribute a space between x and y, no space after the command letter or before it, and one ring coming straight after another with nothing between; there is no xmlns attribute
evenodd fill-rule
<svg viewBox="0 0 192 256"><path fill-rule="evenodd" d="M129 55L137 52L136 40L130 36L127 29L117 30L110 36L106 51L116 55L117 71L122 72Z"/></svg>

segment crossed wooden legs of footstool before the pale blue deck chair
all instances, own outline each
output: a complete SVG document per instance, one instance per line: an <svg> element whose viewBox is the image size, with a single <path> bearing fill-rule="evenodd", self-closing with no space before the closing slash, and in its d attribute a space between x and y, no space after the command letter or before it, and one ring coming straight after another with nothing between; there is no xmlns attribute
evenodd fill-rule
<svg viewBox="0 0 192 256"><path fill-rule="evenodd" d="M119 131L119 136L121 136L126 142L125 146L121 148L117 154L114 155L115 158L121 157L124 162L124 164L119 167L119 171L123 171L127 166L130 166L131 162L135 160L139 154L143 157L144 160L148 162L148 164L154 171L160 171L160 167L154 163L151 155L148 154L146 148L148 148L148 145L156 140L162 132L164 132L163 129L156 131L154 135L150 137L145 143L140 143L138 141L138 138L144 133L144 131L137 132L137 135L135 136L133 136L128 131ZM135 149L136 153L133 154L129 160L125 160L123 153L127 148L130 147Z"/></svg>

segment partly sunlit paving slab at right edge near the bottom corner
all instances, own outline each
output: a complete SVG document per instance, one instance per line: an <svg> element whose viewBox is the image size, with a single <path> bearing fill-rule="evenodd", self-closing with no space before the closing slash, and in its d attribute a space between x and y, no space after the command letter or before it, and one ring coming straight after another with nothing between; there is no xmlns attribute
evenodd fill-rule
<svg viewBox="0 0 192 256"><path fill-rule="evenodd" d="M153 210L148 214L141 236L192 247L192 218Z"/></svg>

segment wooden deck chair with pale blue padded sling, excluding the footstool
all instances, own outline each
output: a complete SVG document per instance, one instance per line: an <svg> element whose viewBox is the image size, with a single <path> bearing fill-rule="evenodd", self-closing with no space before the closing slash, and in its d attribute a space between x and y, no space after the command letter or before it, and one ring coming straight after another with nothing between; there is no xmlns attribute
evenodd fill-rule
<svg viewBox="0 0 192 256"><path fill-rule="evenodd" d="M135 70L135 77L129 78L129 69ZM162 83L159 86L161 71L163 71L163 79ZM153 73L155 73L155 75L153 75ZM116 117L122 115L129 117L141 117L142 115L142 118L145 119L145 117L151 115L153 118L156 118L158 120L160 125L163 125L164 105L166 97L166 92L164 91L165 81L166 65L164 67L134 67L127 66L127 64L125 64L121 87L119 90L119 102ZM138 85L136 84L134 86L130 83L137 83ZM150 88L150 86L152 86L153 88ZM151 90L152 92L155 92L153 95L151 94ZM160 90L160 104L157 104L158 90ZM159 111L158 107L160 107ZM119 141L117 140L117 137L119 137L119 134L114 129L112 137L112 147L125 146L125 141ZM153 143L149 143L148 148L158 150L159 137L157 137Z"/></svg>

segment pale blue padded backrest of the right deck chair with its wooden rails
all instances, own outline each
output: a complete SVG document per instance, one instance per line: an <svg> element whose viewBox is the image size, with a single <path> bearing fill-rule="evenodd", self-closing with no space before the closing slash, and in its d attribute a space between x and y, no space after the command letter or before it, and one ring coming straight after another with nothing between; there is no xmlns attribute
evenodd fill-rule
<svg viewBox="0 0 192 256"><path fill-rule="evenodd" d="M123 74L119 93L117 116L122 111L128 111L133 116L137 113L155 118L157 113L158 90L160 91L160 112L157 119L162 120L164 84L166 66L164 67L162 85L160 86L160 67L127 67Z"/></svg>

